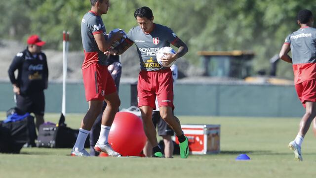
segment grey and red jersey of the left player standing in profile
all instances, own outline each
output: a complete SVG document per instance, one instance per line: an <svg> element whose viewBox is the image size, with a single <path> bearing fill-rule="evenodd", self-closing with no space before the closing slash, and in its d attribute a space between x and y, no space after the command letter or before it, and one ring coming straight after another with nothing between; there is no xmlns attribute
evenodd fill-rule
<svg viewBox="0 0 316 178"><path fill-rule="evenodd" d="M87 12L81 20L81 38L84 50L82 69L95 62L107 65L107 56L99 50L93 36L100 33L106 36L106 29L101 16L92 11Z"/></svg>

